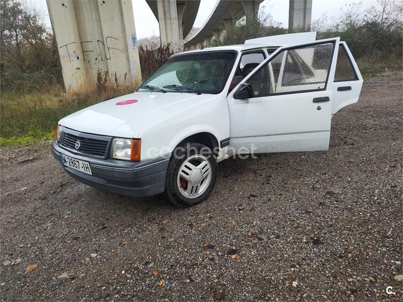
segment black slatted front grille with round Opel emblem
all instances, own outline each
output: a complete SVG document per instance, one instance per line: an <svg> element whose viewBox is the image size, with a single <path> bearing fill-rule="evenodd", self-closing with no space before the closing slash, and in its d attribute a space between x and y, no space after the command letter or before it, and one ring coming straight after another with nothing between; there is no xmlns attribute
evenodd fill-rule
<svg viewBox="0 0 403 302"><path fill-rule="evenodd" d="M80 147L78 149L76 148L77 141L80 141ZM62 132L59 139L59 144L64 147L73 149L82 154L99 156L102 158L105 158L108 143L109 141L107 140L77 136L67 132Z"/></svg>

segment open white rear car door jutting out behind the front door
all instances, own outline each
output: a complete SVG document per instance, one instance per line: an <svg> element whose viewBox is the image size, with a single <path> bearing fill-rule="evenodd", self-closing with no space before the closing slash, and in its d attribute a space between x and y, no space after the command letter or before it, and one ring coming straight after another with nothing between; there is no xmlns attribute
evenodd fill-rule
<svg viewBox="0 0 403 302"><path fill-rule="evenodd" d="M340 42L332 84L331 114L334 115L344 106L357 103L362 86L363 78L356 61L346 42Z"/></svg>

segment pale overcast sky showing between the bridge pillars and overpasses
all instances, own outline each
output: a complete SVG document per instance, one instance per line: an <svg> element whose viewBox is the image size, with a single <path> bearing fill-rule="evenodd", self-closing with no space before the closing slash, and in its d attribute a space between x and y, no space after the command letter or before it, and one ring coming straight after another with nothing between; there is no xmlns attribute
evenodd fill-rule
<svg viewBox="0 0 403 302"><path fill-rule="evenodd" d="M29 6L35 7L43 14L44 18L48 20L46 0L25 0L25 2L29 3ZM341 8L353 2L354 1L349 0L313 0L312 19L318 19L323 14L326 14L329 18L339 15ZM362 0L361 2L362 9L378 6L376 0ZM194 24L195 27L201 27L204 24L214 8L215 3L216 0L200 1L199 12ZM260 4L260 8L262 7L265 7L265 10L273 16L274 21L281 22L284 27L288 26L289 0L265 0ZM138 39L159 35L158 22L145 0L133 0L133 12Z"/></svg>

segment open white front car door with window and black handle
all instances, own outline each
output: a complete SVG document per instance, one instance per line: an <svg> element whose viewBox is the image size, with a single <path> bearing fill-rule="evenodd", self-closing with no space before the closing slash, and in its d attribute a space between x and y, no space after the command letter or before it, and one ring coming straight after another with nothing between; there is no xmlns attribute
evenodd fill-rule
<svg viewBox="0 0 403 302"><path fill-rule="evenodd" d="M238 153L326 150L339 39L280 47L228 95L230 147Z"/></svg>

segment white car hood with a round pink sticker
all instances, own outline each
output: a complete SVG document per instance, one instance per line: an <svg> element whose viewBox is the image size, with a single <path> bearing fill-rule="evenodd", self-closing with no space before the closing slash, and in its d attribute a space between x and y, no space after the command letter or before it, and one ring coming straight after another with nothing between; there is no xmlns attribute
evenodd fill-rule
<svg viewBox="0 0 403 302"><path fill-rule="evenodd" d="M141 138L154 124L174 118L213 97L216 96L136 92L82 109L59 124L86 133Z"/></svg>

